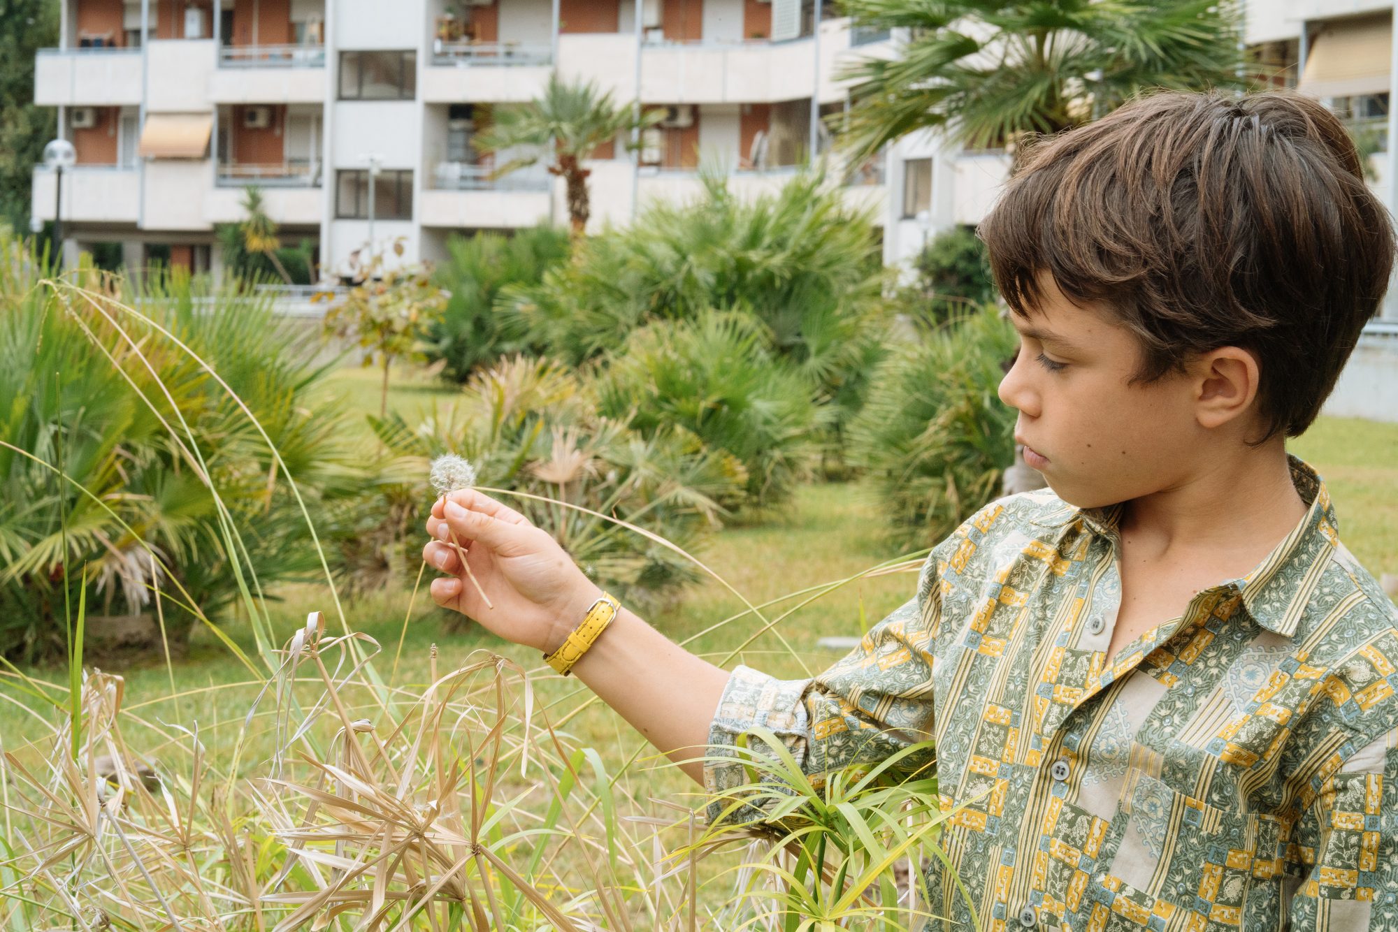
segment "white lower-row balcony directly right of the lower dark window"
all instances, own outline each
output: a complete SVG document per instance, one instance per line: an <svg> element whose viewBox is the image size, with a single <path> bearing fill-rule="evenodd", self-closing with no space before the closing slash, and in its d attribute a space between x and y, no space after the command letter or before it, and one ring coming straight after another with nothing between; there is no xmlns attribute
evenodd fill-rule
<svg viewBox="0 0 1398 932"><path fill-rule="evenodd" d="M541 170L491 177L492 166L439 162L422 191L424 226L519 228L548 217L552 179Z"/></svg>

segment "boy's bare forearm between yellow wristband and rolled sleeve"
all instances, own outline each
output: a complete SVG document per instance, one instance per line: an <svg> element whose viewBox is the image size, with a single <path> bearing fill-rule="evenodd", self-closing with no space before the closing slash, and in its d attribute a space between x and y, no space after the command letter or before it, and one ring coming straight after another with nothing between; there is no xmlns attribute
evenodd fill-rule
<svg viewBox="0 0 1398 932"><path fill-rule="evenodd" d="M703 785L699 759L707 753L709 725L728 682L727 671L695 657L622 606L572 672Z"/></svg>

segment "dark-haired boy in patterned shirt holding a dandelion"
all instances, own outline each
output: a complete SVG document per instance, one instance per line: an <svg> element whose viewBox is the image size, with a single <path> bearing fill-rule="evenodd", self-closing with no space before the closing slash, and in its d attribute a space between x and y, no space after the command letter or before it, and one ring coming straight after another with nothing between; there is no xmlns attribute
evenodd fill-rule
<svg viewBox="0 0 1398 932"><path fill-rule="evenodd" d="M1392 263L1343 126L1148 96L1032 147L981 236L1021 334L1000 397L1051 492L981 509L812 679L730 675L625 609L575 672L709 791L747 777L684 749L754 724L815 776L934 738L987 929L1398 928L1398 611L1285 450ZM480 493L445 518L495 611L442 544L433 598L558 648L597 588Z"/></svg>

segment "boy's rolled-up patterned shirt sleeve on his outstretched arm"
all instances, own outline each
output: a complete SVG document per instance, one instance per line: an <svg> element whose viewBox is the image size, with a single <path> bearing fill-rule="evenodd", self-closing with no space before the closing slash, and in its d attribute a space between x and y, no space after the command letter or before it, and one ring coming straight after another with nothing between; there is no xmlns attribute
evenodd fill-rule
<svg viewBox="0 0 1398 932"><path fill-rule="evenodd" d="M720 757L705 763L710 796L752 782L734 748L755 725L776 734L816 788L828 771L875 763L932 738L931 646L941 615L937 558L934 551L923 565L917 595L825 672L781 680L751 667L734 669L709 727L707 753ZM770 756L761 741L749 741L748 748ZM914 753L900 762L900 770L918 770L931 760L931 753ZM709 822L716 823L731 802L713 798ZM726 822L754 815L751 806L740 808Z"/></svg>

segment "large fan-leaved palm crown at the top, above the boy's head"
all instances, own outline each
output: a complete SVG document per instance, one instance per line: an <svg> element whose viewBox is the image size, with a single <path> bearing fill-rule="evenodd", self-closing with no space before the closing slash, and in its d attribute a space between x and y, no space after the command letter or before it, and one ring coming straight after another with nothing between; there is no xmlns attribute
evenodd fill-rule
<svg viewBox="0 0 1398 932"><path fill-rule="evenodd" d="M1057 133L1152 87L1243 85L1236 0L844 0L856 22L907 29L865 57L844 144L856 156L937 129L973 148Z"/></svg>

